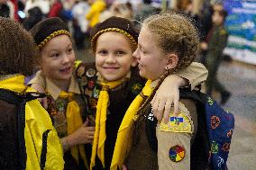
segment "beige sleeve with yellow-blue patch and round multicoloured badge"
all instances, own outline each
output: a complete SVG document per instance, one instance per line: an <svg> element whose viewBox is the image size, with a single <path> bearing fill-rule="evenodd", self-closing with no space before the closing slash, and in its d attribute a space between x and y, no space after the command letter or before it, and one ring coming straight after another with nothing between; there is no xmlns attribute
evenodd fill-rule
<svg viewBox="0 0 256 170"><path fill-rule="evenodd" d="M196 112L196 106L192 110ZM178 117L169 114L169 123L159 123L158 164L160 170L190 169L190 141L194 134L192 116L183 103L179 103Z"/></svg>

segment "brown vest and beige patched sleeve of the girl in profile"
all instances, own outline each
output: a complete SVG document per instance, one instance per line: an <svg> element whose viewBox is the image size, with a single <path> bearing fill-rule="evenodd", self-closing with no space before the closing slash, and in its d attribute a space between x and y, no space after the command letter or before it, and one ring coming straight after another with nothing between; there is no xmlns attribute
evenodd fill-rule
<svg viewBox="0 0 256 170"><path fill-rule="evenodd" d="M151 83L151 88L156 82ZM141 118L133 118L136 128L124 162L127 169L190 169L190 143L197 132L195 103L181 99L178 117L170 112L168 124L157 123L150 104L142 112Z"/></svg>

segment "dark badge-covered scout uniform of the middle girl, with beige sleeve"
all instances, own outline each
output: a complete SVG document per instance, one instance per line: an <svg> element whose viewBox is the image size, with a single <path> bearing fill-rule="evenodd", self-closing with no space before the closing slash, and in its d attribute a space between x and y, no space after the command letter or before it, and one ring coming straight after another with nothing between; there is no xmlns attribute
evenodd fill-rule
<svg viewBox="0 0 256 170"><path fill-rule="evenodd" d="M197 72L197 76L191 76L190 73ZM187 77L191 83L191 88L206 80L206 70L201 64L192 63L191 67L187 67L186 71L178 73L178 76ZM96 73L95 64L81 63L78 66L76 76L82 93L87 98L87 111L91 120L96 119L96 105L99 93L102 90L100 82L102 77ZM188 78L189 77L189 78ZM133 68L131 73L123 79L123 83L108 90L109 102L107 106L106 122L105 122L105 168L111 169L113 162L113 154L116 146L116 138L120 125L123 121L124 114L133 102L133 99L142 91L145 79L139 76L137 68ZM117 112L118 111L118 112ZM187 115L189 115L187 113ZM191 134L190 134L191 135ZM117 151L116 151L117 152ZM114 166L116 167L116 166ZM102 169L103 165L98 157L96 157L93 169ZM113 168L113 167L112 167ZM114 168L113 168L114 169Z"/></svg>

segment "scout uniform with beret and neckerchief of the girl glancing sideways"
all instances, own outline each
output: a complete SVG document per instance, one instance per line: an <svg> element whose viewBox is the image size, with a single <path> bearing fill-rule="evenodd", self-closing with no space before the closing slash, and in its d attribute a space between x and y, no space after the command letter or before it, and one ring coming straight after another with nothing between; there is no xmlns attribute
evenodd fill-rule
<svg viewBox="0 0 256 170"><path fill-rule="evenodd" d="M30 32L39 50L43 49L49 40L59 35L71 36L66 23L59 18L48 18L38 22ZM72 134L86 121L85 102L74 76L71 76L68 91L65 92L51 82L50 79L42 76L41 71L38 71L36 76L29 82L29 85L32 84L44 87L47 94L47 111L59 138ZM64 169L88 168L85 145L72 146L69 151L65 152L64 160Z"/></svg>

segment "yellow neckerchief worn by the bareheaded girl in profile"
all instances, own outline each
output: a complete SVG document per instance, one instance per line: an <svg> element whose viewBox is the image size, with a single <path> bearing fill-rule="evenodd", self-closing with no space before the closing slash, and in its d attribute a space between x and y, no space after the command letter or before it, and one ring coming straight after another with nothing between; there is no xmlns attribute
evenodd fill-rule
<svg viewBox="0 0 256 170"><path fill-rule="evenodd" d="M115 141L114 146L114 154L110 166L110 170L116 170L119 166L120 169L122 169L123 166L123 160L127 154L128 149L128 139L129 138L129 132L131 129L131 123L133 122L133 118L136 115L138 109L142 105L142 102L144 101L143 96L150 96L152 93L151 88L151 80L148 80L145 86L142 89L142 93L138 94L136 98L133 100L133 103L130 104L128 110L125 112L123 121L119 127L117 138Z"/></svg>

